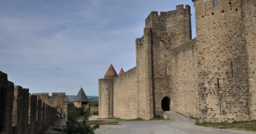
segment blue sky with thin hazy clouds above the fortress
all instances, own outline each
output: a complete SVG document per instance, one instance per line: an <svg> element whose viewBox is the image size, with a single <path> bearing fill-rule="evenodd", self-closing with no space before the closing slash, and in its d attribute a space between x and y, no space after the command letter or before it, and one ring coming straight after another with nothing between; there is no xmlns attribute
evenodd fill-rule
<svg viewBox="0 0 256 134"><path fill-rule="evenodd" d="M98 95L98 79L136 66L135 39L151 11L192 0L0 0L0 71L29 93Z"/></svg>

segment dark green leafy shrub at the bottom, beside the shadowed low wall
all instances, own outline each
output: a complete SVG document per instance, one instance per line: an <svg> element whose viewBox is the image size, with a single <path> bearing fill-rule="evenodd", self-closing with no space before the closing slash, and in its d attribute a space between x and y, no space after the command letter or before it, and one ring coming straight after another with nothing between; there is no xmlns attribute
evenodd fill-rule
<svg viewBox="0 0 256 134"><path fill-rule="evenodd" d="M66 125L61 128L53 128L56 134L95 134L94 131L99 128L99 125L94 126L88 124L89 113L83 115L81 122L77 121L77 116L73 112L67 113Z"/></svg>

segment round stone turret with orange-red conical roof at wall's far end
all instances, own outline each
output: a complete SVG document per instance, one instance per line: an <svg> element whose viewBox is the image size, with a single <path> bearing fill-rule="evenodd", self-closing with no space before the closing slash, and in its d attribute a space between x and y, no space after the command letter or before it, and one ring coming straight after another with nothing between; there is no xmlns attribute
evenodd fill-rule
<svg viewBox="0 0 256 134"><path fill-rule="evenodd" d="M109 66L104 79L99 79L99 117L113 117L114 78L117 76L113 65Z"/></svg>

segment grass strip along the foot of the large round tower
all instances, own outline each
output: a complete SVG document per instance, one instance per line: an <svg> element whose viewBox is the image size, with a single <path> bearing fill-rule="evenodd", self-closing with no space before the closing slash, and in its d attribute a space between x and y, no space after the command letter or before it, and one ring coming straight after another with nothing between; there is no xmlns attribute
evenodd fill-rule
<svg viewBox="0 0 256 134"><path fill-rule="evenodd" d="M232 123L220 122L199 122L199 119L195 119L197 126L208 126L218 129L236 129L236 130L246 130L246 131L256 131L256 120L252 121L233 121Z"/></svg>

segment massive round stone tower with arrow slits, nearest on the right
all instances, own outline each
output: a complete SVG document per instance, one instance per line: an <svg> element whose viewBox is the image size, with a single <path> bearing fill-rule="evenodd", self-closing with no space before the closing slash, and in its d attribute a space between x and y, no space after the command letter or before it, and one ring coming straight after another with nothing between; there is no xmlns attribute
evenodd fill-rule
<svg viewBox="0 0 256 134"><path fill-rule="evenodd" d="M195 3L200 121L249 119L243 0Z"/></svg>

